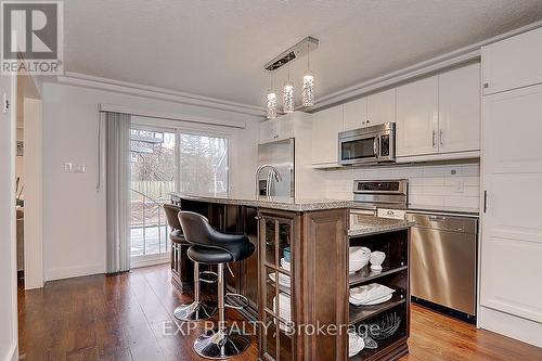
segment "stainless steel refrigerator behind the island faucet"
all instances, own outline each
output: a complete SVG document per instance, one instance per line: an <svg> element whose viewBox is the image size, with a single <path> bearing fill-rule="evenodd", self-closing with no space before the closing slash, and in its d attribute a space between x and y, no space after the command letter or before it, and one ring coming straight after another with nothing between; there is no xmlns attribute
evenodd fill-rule
<svg viewBox="0 0 542 361"><path fill-rule="evenodd" d="M276 182L268 178L268 171L262 171L259 179L259 194L268 196L295 196L295 140L294 138L258 145L258 166L275 167L282 180ZM267 183L270 183L269 194L266 194Z"/></svg>

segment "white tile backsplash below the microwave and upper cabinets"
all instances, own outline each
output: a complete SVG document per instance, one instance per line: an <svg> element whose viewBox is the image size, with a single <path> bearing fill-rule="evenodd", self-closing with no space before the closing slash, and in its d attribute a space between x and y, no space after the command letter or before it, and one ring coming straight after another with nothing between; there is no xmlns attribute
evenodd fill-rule
<svg viewBox="0 0 542 361"><path fill-rule="evenodd" d="M327 198L352 199L354 179L408 179L411 208L442 207L478 210L479 163L408 165L323 171Z"/></svg>

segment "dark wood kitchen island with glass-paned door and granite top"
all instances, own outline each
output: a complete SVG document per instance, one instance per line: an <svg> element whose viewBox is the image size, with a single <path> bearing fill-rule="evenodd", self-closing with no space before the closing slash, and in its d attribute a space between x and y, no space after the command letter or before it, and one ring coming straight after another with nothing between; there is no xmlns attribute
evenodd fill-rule
<svg viewBox="0 0 542 361"><path fill-rule="evenodd" d="M171 202L206 216L222 232L247 235L255 245L251 257L231 265L233 276L228 278L227 287L248 298L244 314L259 321L262 360L348 359L347 330L353 321L367 320L350 320L348 250L354 241L348 224L352 202L182 194L172 194ZM371 243L375 234L383 234L378 224L366 225L366 235L357 231L357 240L365 237ZM408 224L397 225L399 229L408 230ZM362 282L360 279L356 284ZM401 330L406 327L404 322ZM375 359L373 353L363 354Z"/></svg>

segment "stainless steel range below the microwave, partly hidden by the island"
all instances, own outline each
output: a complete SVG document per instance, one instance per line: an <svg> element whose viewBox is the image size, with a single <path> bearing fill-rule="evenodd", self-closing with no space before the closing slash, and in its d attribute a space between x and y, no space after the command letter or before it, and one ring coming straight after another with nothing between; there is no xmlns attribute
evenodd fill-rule
<svg viewBox="0 0 542 361"><path fill-rule="evenodd" d="M350 223L356 223L356 218L360 215L404 219L404 209L409 203L408 193L406 179L354 180L356 208L350 209Z"/></svg>

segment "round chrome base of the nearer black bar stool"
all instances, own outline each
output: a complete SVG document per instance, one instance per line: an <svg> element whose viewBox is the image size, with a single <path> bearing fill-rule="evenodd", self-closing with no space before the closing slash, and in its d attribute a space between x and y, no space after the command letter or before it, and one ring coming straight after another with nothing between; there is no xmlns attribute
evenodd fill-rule
<svg viewBox="0 0 542 361"><path fill-rule="evenodd" d="M250 340L248 337L227 330L208 330L194 341L197 354L206 359L223 360L243 353Z"/></svg>

